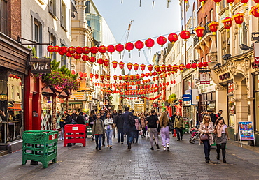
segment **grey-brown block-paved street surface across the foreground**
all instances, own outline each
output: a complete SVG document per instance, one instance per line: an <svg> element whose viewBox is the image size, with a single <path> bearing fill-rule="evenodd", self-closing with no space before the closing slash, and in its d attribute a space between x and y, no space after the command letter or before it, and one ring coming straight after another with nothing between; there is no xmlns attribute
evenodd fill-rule
<svg viewBox="0 0 259 180"><path fill-rule="evenodd" d="M113 139L113 149L95 149L87 139L86 147L76 144L63 147L59 141L57 163L43 169L22 165L22 151L0 157L0 179L259 179L259 153L227 144L227 164L216 160L216 147L211 149L211 162L205 163L204 148L171 137L170 151L150 150L150 142L139 138L132 150ZM161 139L160 139L161 142ZM255 148L256 150L258 148Z"/></svg>

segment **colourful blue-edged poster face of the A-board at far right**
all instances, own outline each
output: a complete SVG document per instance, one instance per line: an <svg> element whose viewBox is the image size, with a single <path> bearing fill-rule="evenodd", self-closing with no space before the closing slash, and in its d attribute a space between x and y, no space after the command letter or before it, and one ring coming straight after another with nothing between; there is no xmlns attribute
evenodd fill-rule
<svg viewBox="0 0 259 180"><path fill-rule="evenodd" d="M239 122L240 140L255 140L253 122Z"/></svg>

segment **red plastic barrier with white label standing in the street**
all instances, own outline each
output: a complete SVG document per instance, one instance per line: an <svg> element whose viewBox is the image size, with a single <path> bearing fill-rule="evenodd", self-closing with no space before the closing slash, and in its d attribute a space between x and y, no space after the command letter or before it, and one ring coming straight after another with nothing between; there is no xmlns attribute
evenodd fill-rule
<svg viewBox="0 0 259 180"><path fill-rule="evenodd" d="M85 131L86 126L83 124L67 124L64 126L64 147L69 143L82 143L85 147Z"/></svg>

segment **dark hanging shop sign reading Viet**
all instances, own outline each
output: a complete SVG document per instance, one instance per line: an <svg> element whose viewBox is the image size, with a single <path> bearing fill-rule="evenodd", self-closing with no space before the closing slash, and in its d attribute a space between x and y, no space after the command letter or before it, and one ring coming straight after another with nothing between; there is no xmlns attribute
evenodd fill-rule
<svg viewBox="0 0 259 180"><path fill-rule="evenodd" d="M50 58L33 58L29 62L31 65L31 73L50 73Z"/></svg>

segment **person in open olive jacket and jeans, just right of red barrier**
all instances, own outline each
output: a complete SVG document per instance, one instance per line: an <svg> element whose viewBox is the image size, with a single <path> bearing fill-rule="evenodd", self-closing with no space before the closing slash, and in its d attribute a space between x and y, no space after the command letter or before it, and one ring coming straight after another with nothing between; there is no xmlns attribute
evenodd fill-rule
<svg viewBox="0 0 259 180"><path fill-rule="evenodd" d="M92 135L95 135L96 148L101 151L102 137L104 135L104 121L101 119L101 114L96 115L97 119L94 120L94 126L92 127Z"/></svg>

